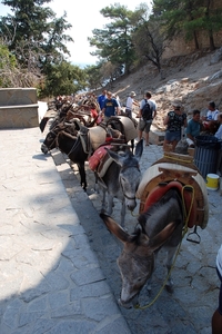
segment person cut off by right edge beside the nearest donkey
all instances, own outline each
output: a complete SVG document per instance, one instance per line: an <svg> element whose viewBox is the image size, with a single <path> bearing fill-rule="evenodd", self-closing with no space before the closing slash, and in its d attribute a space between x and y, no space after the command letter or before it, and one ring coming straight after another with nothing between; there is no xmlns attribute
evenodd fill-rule
<svg viewBox="0 0 222 334"><path fill-rule="evenodd" d="M222 245L216 255L216 273L220 279L220 292L219 292L219 307L215 310L212 316L211 326L212 334L222 333Z"/></svg>

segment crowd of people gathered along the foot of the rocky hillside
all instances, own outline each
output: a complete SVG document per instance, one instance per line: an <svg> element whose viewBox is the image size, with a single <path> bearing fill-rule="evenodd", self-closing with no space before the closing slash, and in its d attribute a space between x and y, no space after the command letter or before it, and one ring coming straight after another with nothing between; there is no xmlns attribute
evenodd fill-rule
<svg viewBox="0 0 222 334"><path fill-rule="evenodd" d="M144 134L145 146L150 145L149 132L153 119L157 117L157 104L150 91L144 94L144 98L139 102L135 100L137 94L131 91L125 100L125 109L122 110L119 98L112 95L111 91L103 90L98 97L100 105L101 119L108 121L111 116L124 115L132 118L134 107L139 108L137 112L138 122L138 139L140 140ZM144 106L149 104L151 109L151 118L145 119L143 115ZM201 117L201 111L195 109L192 111L192 118L188 119L186 112L183 111L183 106L180 101L172 101L172 110L170 110L163 119L165 126L165 136L163 141L163 150L170 145L174 151L178 143L185 138L190 147L195 147L196 137L202 134L213 135L219 140L222 140L222 112L220 112L214 101L208 104L205 116Z"/></svg>

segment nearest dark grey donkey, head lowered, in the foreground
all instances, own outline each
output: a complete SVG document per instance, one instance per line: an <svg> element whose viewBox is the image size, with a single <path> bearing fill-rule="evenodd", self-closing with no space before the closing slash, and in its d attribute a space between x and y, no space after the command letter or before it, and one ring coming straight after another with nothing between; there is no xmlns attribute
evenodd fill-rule
<svg viewBox="0 0 222 334"><path fill-rule="evenodd" d="M129 235L110 216L100 214L108 229L123 243L118 258L122 277L119 304L125 308L138 305L139 294L154 271L157 254L161 247L168 252L167 268L170 273L178 245L182 239L183 209L178 189L171 188L161 199L142 213L132 235ZM167 288L173 292L168 277ZM149 289L151 289L149 287Z"/></svg>

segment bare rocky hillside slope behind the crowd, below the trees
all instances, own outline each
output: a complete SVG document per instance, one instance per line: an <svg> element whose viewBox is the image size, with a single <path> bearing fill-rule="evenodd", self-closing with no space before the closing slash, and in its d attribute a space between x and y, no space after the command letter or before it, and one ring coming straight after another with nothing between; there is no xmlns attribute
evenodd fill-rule
<svg viewBox="0 0 222 334"><path fill-rule="evenodd" d="M164 130L163 118L174 100L181 101L189 118L193 109L204 115L211 100L222 111L222 48L214 52L195 52L165 60L163 76L164 79L160 79L157 69L147 65L117 80L108 89L119 95L121 104L125 102L131 90L135 91L138 101L145 90L151 91L158 106L154 125L159 130Z"/></svg>

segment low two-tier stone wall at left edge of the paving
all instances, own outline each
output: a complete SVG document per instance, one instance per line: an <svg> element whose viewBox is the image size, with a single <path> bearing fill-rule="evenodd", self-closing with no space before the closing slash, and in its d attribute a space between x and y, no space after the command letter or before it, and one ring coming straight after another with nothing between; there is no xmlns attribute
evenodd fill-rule
<svg viewBox="0 0 222 334"><path fill-rule="evenodd" d="M0 128L39 126L36 88L0 89Z"/></svg>

